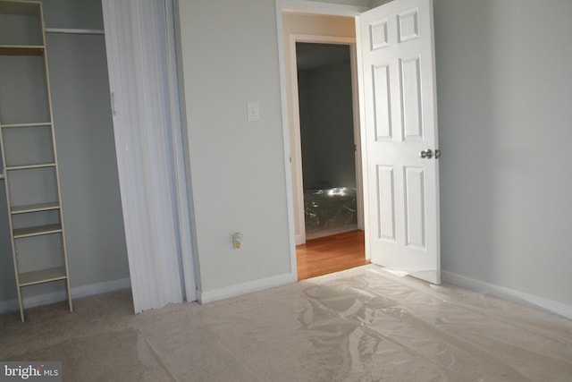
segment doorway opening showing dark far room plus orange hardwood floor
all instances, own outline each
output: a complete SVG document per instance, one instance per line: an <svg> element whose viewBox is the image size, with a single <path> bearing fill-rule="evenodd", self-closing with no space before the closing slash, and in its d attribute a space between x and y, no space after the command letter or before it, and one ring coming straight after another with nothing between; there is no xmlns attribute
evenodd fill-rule
<svg viewBox="0 0 572 382"><path fill-rule="evenodd" d="M348 43L295 43L305 233L297 246L299 280L369 262L359 230L353 48Z"/></svg>

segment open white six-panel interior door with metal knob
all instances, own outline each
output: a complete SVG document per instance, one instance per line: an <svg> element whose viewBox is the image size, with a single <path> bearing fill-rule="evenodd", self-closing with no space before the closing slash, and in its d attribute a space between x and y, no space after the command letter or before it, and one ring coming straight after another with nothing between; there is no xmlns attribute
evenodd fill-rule
<svg viewBox="0 0 572 382"><path fill-rule="evenodd" d="M433 2L394 0L358 20L368 257L440 284Z"/></svg>

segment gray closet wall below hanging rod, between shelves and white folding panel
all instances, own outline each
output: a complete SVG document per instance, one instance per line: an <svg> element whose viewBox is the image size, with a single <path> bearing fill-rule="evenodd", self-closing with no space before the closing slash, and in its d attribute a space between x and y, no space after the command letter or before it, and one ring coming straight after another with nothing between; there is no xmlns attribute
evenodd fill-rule
<svg viewBox="0 0 572 382"><path fill-rule="evenodd" d="M71 286L129 277L105 38L48 38Z"/></svg>

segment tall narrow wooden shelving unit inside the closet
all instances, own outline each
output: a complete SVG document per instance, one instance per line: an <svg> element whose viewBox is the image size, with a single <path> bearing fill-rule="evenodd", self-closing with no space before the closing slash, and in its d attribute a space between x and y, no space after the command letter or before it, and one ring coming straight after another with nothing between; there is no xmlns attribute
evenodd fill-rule
<svg viewBox="0 0 572 382"><path fill-rule="evenodd" d="M13 36L10 36L11 33L3 34L0 40L0 64L3 68L0 73L0 91L14 93L13 97L12 94L6 96L5 93L0 93L0 149L10 215L14 272L23 322L25 316L22 288L29 285L63 282L70 311L73 308L42 4L34 1L0 0L0 18L0 22L21 22L18 30L29 30L29 33L14 32ZM25 38L29 41L22 41ZM13 73L5 69L10 65L13 65ZM41 66L41 71L30 72L29 76L24 72L25 69L22 69L38 69L38 66ZM26 80L35 78L38 72L43 72L39 91L19 91L13 89L13 85L3 86L2 81L8 81L8 76L21 76L25 77L21 80ZM38 99L29 99L30 94ZM40 104L44 105L38 106ZM25 109L26 105L29 105L30 110L21 110L22 107ZM55 235L59 238L55 238ZM48 241L46 245L43 245L42 239ZM27 242L30 240L40 242ZM54 245L54 242L59 245Z"/></svg>

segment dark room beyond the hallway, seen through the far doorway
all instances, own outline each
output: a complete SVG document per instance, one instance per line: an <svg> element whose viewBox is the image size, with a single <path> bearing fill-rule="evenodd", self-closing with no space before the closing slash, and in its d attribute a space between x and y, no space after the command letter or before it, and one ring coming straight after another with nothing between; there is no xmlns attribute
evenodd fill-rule
<svg viewBox="0 0 572 382"><path fill-rule="evenodd" d="M296 43L307 240L357 230L349 48Z"/></svg>

